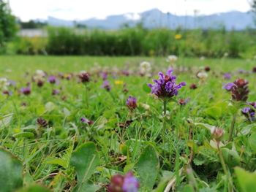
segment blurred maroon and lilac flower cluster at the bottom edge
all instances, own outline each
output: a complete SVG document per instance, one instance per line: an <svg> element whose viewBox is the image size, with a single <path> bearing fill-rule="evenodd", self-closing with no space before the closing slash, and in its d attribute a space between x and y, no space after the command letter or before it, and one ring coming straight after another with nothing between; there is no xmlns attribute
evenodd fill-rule
<svg viewBox="0 0 256 192"><path fill-rule="evenodd" d="M110 185L108 185L108 192L137 192L140 187L140 183L134 177L132 172L128 172L125 175L116 174L110 179Z"/></svg>

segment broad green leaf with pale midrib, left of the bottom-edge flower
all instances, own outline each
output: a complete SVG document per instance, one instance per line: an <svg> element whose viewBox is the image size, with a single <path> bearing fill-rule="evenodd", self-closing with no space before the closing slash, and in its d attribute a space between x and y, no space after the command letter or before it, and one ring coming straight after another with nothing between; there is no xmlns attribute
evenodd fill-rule
<svg viewBox="0 0 256 192"><path fill-rule="evenodd" d="M83 191L86 185L89 185L87 181L91 174L94 173L94 170L99 165L99 155L94 143L87 142L78 147L78 150L71 155L70 165L75 167L75 172L78 176L78 185L74 191Z"/></svg>

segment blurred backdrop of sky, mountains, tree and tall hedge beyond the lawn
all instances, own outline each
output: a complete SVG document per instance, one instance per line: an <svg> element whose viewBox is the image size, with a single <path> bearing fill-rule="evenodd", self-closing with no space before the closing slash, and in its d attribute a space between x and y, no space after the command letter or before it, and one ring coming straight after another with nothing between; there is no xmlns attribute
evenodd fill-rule
<svg viewBox="0 0 256 192"><path fill-rule="evenodd" d="M256 58L256 0L0 0L0 54Z"/></svg>

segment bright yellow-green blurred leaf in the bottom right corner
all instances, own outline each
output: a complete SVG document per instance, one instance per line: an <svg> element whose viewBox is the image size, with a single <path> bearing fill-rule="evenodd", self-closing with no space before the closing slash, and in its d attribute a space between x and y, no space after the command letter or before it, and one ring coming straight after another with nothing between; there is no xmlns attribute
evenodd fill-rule
<svg viewBox="0 0 256 192"><path fill-rule="evenodd" d="M235 172L241 192L254 192L256 188L256 173L246 172L240 167L236 167Z"/></svg>

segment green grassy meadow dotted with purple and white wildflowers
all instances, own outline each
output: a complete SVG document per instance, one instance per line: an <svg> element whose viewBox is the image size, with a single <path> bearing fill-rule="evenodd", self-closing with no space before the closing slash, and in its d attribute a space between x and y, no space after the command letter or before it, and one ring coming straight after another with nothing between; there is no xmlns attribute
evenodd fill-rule
<svg viewBox="0 0 256 192"><path fill-rule="evenodd" d="M186 85L177 96L151 93L170 66L165 80ZM225 57L1 56L1 189L254 191L255 67ZM246 82L222 88L238 78L248 99Z"/></svg>

